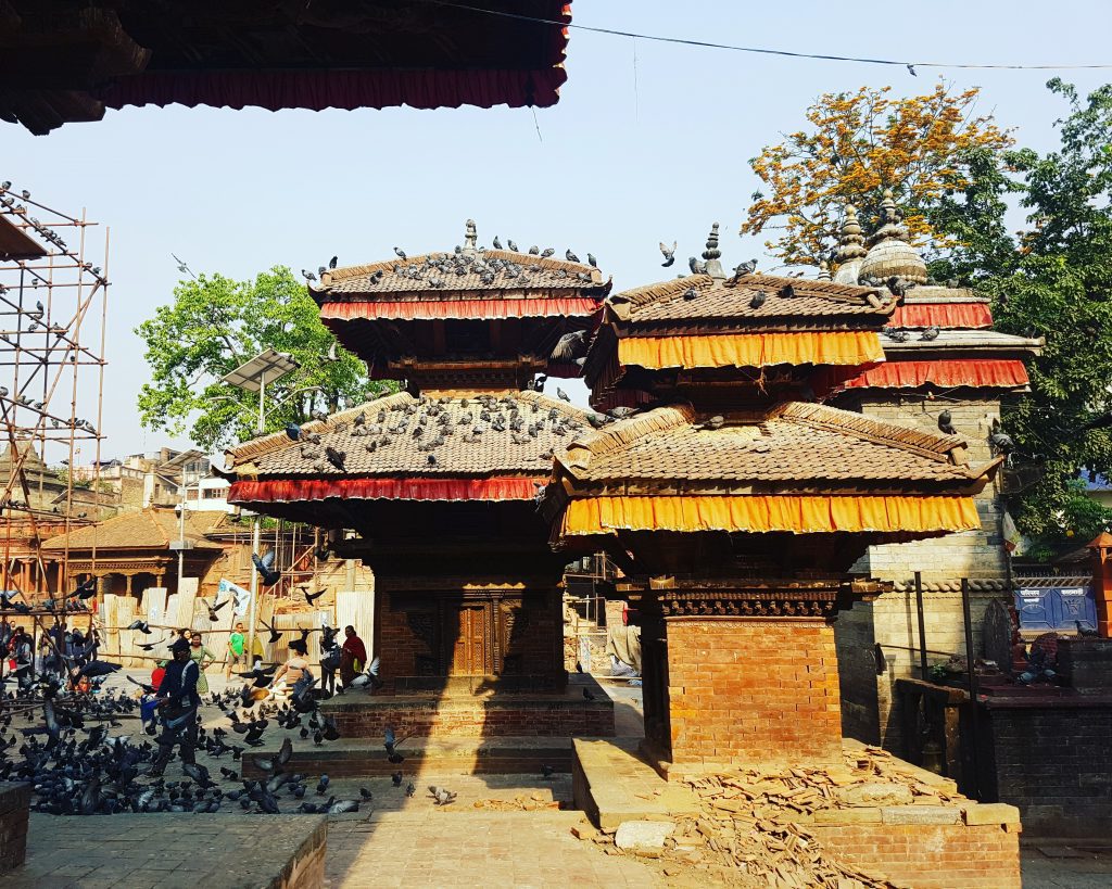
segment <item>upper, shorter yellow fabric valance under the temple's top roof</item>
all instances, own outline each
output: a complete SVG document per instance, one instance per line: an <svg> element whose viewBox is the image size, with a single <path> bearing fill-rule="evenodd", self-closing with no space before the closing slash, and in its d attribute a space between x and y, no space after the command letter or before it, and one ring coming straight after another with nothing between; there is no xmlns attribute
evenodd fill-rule
<svg viewBox="0 0 1112 889"><path fill-rule="evenodd" d="M625 337L618 361L662 368L764 368L773 364L872 364L884 360L872 330L803 333L718 333L706 337Z"/></svg>

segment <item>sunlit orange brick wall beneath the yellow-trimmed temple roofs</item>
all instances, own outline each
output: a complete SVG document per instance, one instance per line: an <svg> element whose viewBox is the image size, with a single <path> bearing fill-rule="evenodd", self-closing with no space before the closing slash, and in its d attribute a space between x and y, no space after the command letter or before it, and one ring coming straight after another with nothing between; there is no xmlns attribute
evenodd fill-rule
<svg viewBox="0 0 1112 889"><path fill-rule="evenodd" d="M822 620L666 621L679 769L842 757L834 630Z"/></svg>

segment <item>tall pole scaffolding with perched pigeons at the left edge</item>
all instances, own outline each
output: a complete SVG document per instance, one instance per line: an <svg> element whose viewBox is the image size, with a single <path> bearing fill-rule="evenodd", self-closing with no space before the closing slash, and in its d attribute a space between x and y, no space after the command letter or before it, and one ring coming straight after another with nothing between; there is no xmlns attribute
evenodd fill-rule
<svg viewBox="0 0 1112 889"><path fill-rule="evenodd" d="M0 182L0 449L9 463L0 477L0 589L27 603L57 597L63 608L75 583L68 542L49 563L41 543L63 533L68 541L101 518L109 231L101 246L97 226L83 209L70 214ZM48 462L69 471L49 475ZM89 469L78 478L82 462Z"/></svg>

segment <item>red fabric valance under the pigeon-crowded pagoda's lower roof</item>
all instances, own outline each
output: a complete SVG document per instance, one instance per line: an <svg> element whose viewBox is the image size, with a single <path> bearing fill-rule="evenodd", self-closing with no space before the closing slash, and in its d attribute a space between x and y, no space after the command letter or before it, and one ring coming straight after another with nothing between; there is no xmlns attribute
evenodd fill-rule
<svg viewBox="0 0 1112 889"><path fill-rule="evenodd" d="M228 502L290 503L308 500L532 500L536 478L270 479L237 481Z"/></svg>

